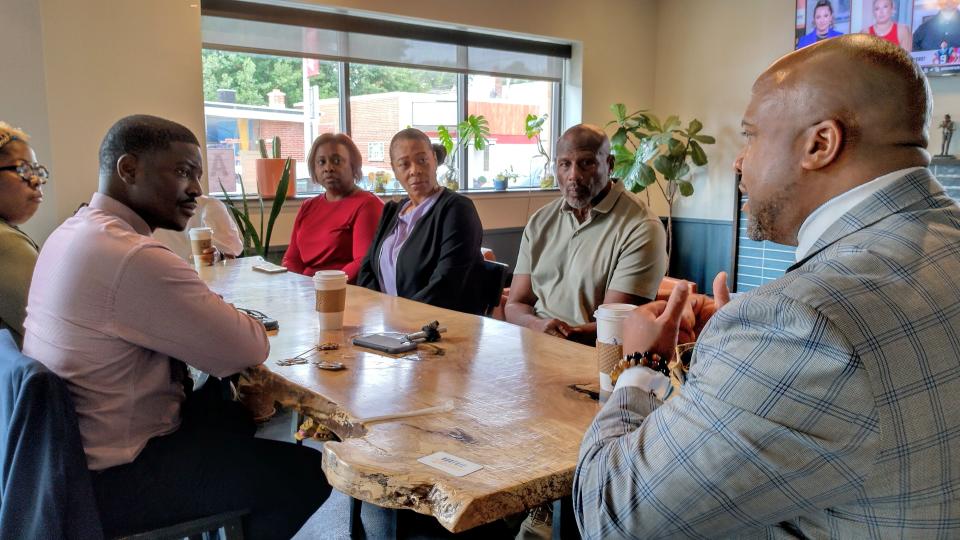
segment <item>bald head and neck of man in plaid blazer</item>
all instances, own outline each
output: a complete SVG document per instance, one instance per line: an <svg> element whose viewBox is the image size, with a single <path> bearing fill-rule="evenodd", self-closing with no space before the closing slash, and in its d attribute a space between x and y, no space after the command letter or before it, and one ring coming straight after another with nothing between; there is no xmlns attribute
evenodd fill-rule
<svg viewBox="0 0 960 540"><path fill-rule="evenodd" d="M796 245L826 201L926 166L931 101L910 56L877 37L840 36L775 62L753 86L734 164L750 237Z"/></svg>

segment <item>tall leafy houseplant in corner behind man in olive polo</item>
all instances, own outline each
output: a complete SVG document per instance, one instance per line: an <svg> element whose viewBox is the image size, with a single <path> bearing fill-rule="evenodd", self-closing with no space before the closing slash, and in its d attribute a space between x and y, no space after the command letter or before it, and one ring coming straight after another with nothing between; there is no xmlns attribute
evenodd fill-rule
<svg viewBox="0 0 960 540"><path fill-rule="evenodd" d="M616 126L610 137L614 157L612 175L623 181L624 187L634 193L656 185L667 201L667 260L673 251L673 204L677 196L693 195L691 163L696 167L707 164L704 144L716 142L701 133L703 124L694 118L686 129L680 118L670 116L663 122L645 110L627 114L622 103L612 105L614 120L607 126ZM647 202L650 194L647 193Z"/></svg>

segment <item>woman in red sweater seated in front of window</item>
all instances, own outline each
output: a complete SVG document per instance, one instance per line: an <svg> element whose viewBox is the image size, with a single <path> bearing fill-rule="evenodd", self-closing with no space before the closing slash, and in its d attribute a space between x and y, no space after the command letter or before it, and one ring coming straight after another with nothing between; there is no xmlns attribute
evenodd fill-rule
<svg viewBox="0 0 960 540"><path fill-rule="evenodd" d="M339 133L317 137L307 163L310 178L326 193L300 207L283 265L305 276L343 270L353 283L377 230L383 202L357 187L363 158L350 137Z"/></svg>

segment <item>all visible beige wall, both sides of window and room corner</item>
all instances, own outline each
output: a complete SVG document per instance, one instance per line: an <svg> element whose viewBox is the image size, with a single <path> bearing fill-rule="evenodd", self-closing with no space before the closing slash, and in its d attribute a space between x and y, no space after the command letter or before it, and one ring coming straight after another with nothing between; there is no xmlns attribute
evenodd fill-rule
<svg viewBox="0 0 960 540"><path fill-rule="evenodd" d="M0 55L0 115L34 135L54 177L27 230L43 240L96 189L97 149L117 118L136 112L182 122L203 134L197 0L7 0L0 34L22 45ZM697 193L677 215L732 217L730 163L754 78L792 47L794 0L324 0L324 3L575 41L583 66L586 122L605 123L609 105L697 117L717 136ZM508 15L505 15L508 14ZM575 84L577 81L573 81ZM935 116L960 115L960 78L933 79ZM939 149L939 130L931 148ZM960 140L955 142L960 146ZM523 225L520 204L478 203L488 228ZM538 206L536 199L528 206ZM662 204L654 208L663 213ZM288 216L287 214L290 214ZM284 220L293 212L284 214ZM281 230L290 224L282 222ZM280 231L278 231L279 234ZM283 238L283 234L279 234Z"/></svg>

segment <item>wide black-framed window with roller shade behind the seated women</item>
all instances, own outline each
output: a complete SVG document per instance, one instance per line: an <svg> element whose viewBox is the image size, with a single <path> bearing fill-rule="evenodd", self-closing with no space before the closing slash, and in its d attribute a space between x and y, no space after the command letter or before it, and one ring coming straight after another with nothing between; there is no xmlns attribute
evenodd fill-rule
<svg viewBox="0 0 960 540"><path fill-rule="evenodd" d="M259 140L270 152L275 136L296 162L297 193L319 193L305 156L329 132L357 143L361 187L397 192L393 134L412 126L439 142L439 126L455 138L469 115L487 120L487 147L448 161L454 187L490 190L506 176L506 189L541 188L547 162L525 121L547 117L540 142L552 154L568 44L236 0L203 2L201 29L208 157L232 159L241 179L223 182L228 193L256 192Z"/></svg>

